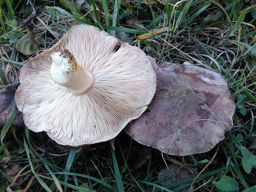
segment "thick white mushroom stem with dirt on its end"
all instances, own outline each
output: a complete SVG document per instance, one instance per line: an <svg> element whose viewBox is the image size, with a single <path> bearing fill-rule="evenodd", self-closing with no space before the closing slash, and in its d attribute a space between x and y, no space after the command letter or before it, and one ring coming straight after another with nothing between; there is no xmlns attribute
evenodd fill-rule
<svg viewBox="0 0 256 192"><path fill-rule="evenodd" d="M77 65L74 56L68 50L58 50L51 54L51 58L51 78L74 95L82 95L94 85L94 75Z"/></svg>

